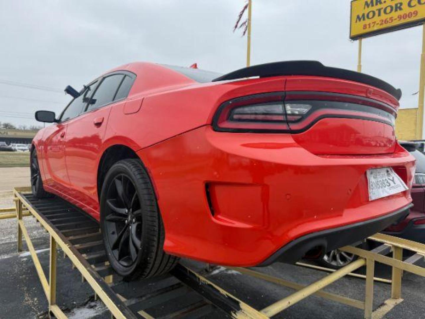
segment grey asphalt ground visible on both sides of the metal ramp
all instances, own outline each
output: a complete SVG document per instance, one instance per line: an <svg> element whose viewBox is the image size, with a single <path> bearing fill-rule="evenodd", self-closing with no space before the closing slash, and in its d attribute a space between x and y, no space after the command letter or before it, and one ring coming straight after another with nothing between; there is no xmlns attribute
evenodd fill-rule
<svg viewBox="0 0 425 319"><path fill-rule="evenodd" d="M3 177L2 173L3 171L0 171L1 177ZM14 173L6 173L13 177ZM22 174L25 174L25 172L22 172ZM13 185L13 178L11 180L10 188ZM2 178L2 184L3 182ZM0 193L0 207L12 205L11 193ZM43 269L48 274L49 236L35 222L34 218L24 217L24 221L31 238L33 238L34 247ZM16 251L16 229L16 220L0 220L0 319L48 318L48 303L31 256L27 252L18 254ZM110 318L105 307L100 302L93 301L93 291L86 282L82 282L81 275L77 270L72 269L69 260L61 257L61 251L59 251L58 256L57 302L60 308L70 318ZM205 268L205 265L201 263L184 262L197 270ZM425 263L422 262L421 266L425 267ZM303 285L319 280L327 274L323 271L279 263L259 270ZM364 270L360 270L360 272L362 271ZM225 268L214 268L212 272L206 273L205 276L256 309L262 309L294 292L292 289L267 283L261 279L248 277ZM390 278L391 268L377 264L375 276ZM363 279L346 276L326 287L325 291L362 300L365 295L365 282ZM375 282L374 309L385 302L390 294L391 285ZM396 305L385 315L385 318L425 318L425 278L405 273L402 284L402 298L404 301ZM167 305L164 305L164 307L167 307ZM274 318L363 318L363 311L310 296Z"/></svg>

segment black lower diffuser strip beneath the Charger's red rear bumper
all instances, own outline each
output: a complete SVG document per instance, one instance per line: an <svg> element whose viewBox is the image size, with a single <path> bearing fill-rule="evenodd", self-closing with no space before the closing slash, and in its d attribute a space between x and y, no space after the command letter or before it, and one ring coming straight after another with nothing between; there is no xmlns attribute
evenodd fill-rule
<svg viewBox="0 0 425 319"><path fill-rule="evenodd" d="M259 264L258 267L268 266L273 262L295 263L303 258L309 250L316 247L322 248L323 253L325 253L353 244L405 218L409 213L409 208L412 206L408 205L379 218L302 236L280 248L272 256Z"/></svg>

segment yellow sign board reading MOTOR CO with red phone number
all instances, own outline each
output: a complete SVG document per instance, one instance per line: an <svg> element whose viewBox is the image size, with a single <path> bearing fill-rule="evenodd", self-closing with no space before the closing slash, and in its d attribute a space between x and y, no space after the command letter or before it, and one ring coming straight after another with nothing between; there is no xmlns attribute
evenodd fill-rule
<svg viewBox="0 0 425 319"><path fill-rule="evenodd" d="M371 37L425 22L425 0L351 1L350 38Z"/></svg>

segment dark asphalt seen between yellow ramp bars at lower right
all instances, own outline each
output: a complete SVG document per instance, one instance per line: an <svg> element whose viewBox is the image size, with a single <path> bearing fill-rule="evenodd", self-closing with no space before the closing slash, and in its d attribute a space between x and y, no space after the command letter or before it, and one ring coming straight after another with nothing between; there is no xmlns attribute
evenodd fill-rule
<svg viewBox="0 0 425 319"><path fill-rule="evenodd" d="M425 263L422 263L421 266L425 267ZM309 285L328 274L324 271L281 263L276 263L266 268L258 268L257 270L303 285ZM375 276L389 279L391 277L391 268L377 264ZM292 289L267 283L261 279L244 276L235 271L226 271L223 268L215 271L215 273L212 272L209 279L218 283L222 288L227 289L227 291L249 305L254 306L256 309L262 309L295 292ZM424 287L425 278L411 273L405 273L402 285L402 298L404 298L404 301L386 314L385 318L425 318L425 305L423 302L425 299ZM346 276L326 287L324 290L363 301L365 296L365 281L364 279ZM376 310L385 300L390 298L390 295L391 285L375 282L374 309ZM348 307L337 302L331 302L316 296L310 296L273 318L354 319L363 318L363 310Z"/></svg>

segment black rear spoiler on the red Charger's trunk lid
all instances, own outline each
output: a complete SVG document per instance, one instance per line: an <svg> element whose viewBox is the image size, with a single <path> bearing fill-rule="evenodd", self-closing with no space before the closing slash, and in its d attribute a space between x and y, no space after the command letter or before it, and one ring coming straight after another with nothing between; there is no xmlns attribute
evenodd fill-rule
<svg viewBox="0 0 425 319"><path fill-rule="evenodd" d="M391 94L397 100L400 100L402 95L400 89L394 88L391 84L388 84L376 77L342 68L331 68L324 66L318 61L283 61L259 64L257 66L249 66L247 68L241 68L237 71L224 74L212 81L236 80L246 77L276 77L280 75L334 77L341 80L360 82L374 86L375 88L380 88L381 90Z"/></svg>

